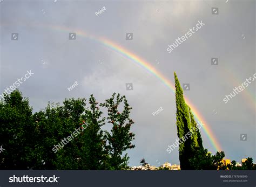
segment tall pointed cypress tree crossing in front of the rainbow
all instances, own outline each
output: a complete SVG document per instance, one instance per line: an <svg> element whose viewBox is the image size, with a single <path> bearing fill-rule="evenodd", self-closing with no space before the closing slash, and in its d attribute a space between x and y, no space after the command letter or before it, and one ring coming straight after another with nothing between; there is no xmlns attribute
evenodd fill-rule
<svg viewBox="0 0 256 187"><path fill-rule="evenodd" d="M190 158L200 148L203 148L200 131L190 107L183 98L183 89L180 86L176 73L174 72L176 87L176 124L179 143L179 161L181 169L193 169L190 164ZM185 139L185 141L184 141Z"/></svg>

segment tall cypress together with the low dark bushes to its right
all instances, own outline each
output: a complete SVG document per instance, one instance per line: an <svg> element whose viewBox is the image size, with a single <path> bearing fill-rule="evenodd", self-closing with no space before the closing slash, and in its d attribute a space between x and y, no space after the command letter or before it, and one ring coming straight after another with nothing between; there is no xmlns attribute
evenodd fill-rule
<svg viewBox="0 0 256 187"><path fill-rule="evenodd" d="M183 90L180 87L179 80L174 72L175 87L176 87L176 120L178 137L186 137L186 141L180 141L179 144L179 160L181 169L196 169L196 170L226 170L238 169L233 164L225 165L222 160L225 157L224 151L217 152L215 155L208 153L203 147L203 140L200 131L197 127L197 122L194 120L191 108L187 106L183 98ZM191 136L186 136L188 132ZM187 138L189 137L189 138ZM252 158L248 158L242 163L240 169L255 169Z"/></svg>

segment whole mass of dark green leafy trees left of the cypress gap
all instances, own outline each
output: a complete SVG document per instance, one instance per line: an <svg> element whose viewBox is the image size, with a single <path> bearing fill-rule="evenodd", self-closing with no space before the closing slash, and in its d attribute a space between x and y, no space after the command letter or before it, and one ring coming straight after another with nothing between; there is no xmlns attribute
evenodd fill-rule
<svg viewBox="0 0 256 187"><path fill-rule="evenodd" d="M124 108L119 113L120 103ZM0 101L0 146L5 149L0 154L0 169L127 168L129 157L122 155L134 148L134 134L130 133L133 121L125 96L113 94L99 104L91 95L89 105L86 108L85 99L66 99L62 106L49 103L44 112L32 114L28 99L19 91L5 95ZM111 133L102 130L106 119L99 106L109 110ZM87 124L83 130L82 121ZM72 140L55 153L54 146L71 134Z"/></svg>

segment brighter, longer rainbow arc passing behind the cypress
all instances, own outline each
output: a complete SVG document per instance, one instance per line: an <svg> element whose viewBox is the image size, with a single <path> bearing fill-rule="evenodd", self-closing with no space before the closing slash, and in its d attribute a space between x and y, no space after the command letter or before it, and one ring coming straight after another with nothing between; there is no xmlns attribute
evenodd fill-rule
<svg viewBox="0 0 256 187"><path fill-rule="evenodd" d="M68 27L63 27L63 26L42 25L42 24L40 24L40 25L43 26L44 28L46 26L46 27L50 27L51 29L55 29L57 31L62 31L62 32L66 31L68 33L71 30ZM154 68L150 63L148 63L144 59L138 57L136 54L128 51L124 47L122 47L106 38L93 36L92 34L86 33L85 31L82 31L82 30L75 30L72 32L75 32L77 36L92 39L92 40L96 41L97 43L104 45L105 47L107 47L119 54L122 54L123 57L130 59L135 64L143 67L145 70L152 73L156 78L158 78L161 82L163 82L163 84L167 88L171 89L171 91L173 93L175 93L176 88L172 84L172 82L169 81L168 79L166 79L164 77L164 75L161 74L159 71L157 71L156 68ZM184 99L185 99L185 102L187 103L187 105L190 106L192 113L193 113L194 117L196 118L196 121L203 123L204 132L206 133L206 135L207 135L208 139L210 140L215 151L221 151L222 150L221 146L220 146L219 142L217 141L217 138L215 138L214 134L212 133L212 130L210 129L209 125L206 123L206 120L204 119L204 117L199 113L199 110L192 104L192 102L190 100L188 100L188 98L186 96L184 96Z"/></svg>

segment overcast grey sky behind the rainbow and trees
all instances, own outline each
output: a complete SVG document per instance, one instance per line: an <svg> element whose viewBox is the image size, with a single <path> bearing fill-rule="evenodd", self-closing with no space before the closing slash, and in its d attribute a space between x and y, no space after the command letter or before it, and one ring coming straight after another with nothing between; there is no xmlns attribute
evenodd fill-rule
<svg viewBox="0 0 256 187"><path fill-rule="evenodd" d="M226 158L255 161L256 80L224 102L256 73L255 8L250 0L0 0L0 94L30 70L33 74L18 89L33 112L49 101L93 94L103 102L120 93L132 106L135 122L136 148L127 151L129 165L139 165L142 158L151 165L179 164L178 148L166 151L178 138L174 92L145 67L104 45L105 39L143 59L171 84L173 72L181 86L189 84L184 95L212 131L209 137L200 129L211 153L217 151L213 138ZM204 25L169 53L169 45L198 22ZM218 65L212 65L213 59Z"/></svg>

